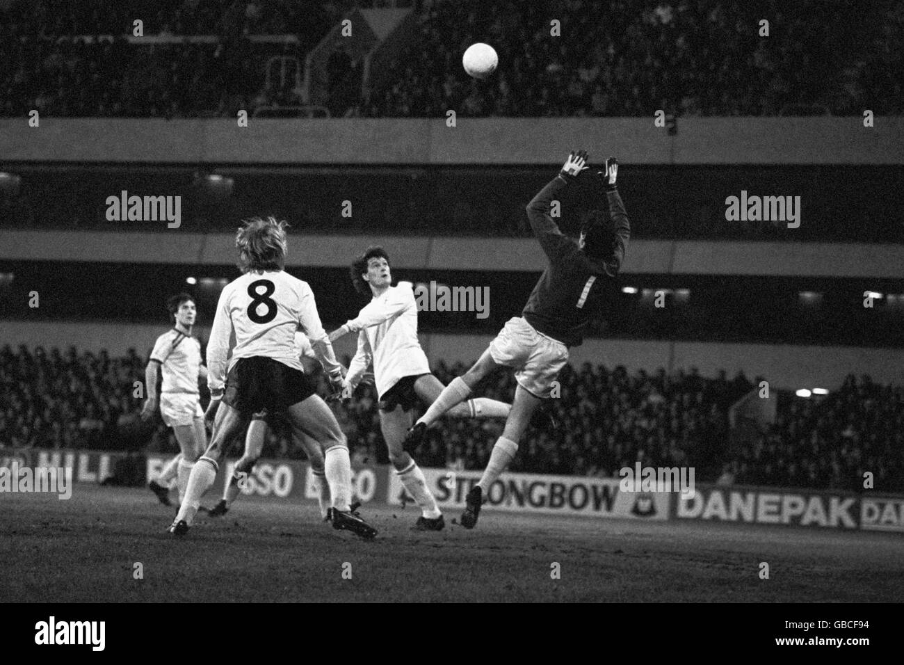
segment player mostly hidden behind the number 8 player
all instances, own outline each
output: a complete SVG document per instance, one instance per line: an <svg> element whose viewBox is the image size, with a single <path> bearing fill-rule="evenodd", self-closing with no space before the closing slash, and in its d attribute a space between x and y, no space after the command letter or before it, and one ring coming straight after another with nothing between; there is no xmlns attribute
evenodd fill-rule
<svg viewBox="0 0 904 665"><path fill-rule="evenodd" d="M302 366L305 367L305 374L313 374L319 366L317 356L315 356L314 348L311 347L311 341L304 333L295 334L295 344L298 349L298 357ZM223 488L223 498L220 502L211 508L209 513L212 518L219 518L229 512L232 503L239 498L239 484L242 478L250 476L257 463L260 452L264 448L264 442L267 440L267 417L266 411L255 413L251 416L251 422L248 425L248 432L245 433L245 450L239 461L235 464L235 470L232 477ZM317 490L317 500L320 503L320 517L326 520L330 502L330 486L326 483L324 475L324 451L320 449L320 444L309 437L305 432L296 432L294 435L297 442L300 443L307 453L307 462L311 466L311 475L314 477L315 489ZM241 474L245 474L242 476Z"/></svg>

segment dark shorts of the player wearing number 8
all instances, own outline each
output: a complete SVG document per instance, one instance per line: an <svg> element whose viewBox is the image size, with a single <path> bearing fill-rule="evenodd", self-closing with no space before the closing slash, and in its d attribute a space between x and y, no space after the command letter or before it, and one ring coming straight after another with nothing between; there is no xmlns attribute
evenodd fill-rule
<svg viewBox="0 0 904 665"><path fill-rule="evenodd" d="M304 372L262 356L239 358L226 376L223 402L244 415L281 411L316 393Z"/></svg>

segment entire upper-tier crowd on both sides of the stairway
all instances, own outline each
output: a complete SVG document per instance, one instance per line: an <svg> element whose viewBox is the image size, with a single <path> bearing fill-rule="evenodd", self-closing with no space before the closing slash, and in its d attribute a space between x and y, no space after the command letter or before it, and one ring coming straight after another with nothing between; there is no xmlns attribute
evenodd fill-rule
<svg viewBox="0 0 904 665"><path fill-rule="evenodd" d="M0 2L0 115L39 109L59 116L227 116L236 108L304 102L300 90L273 99L264 75L273 52L251 50L243 37L295 35L298 43L282 52L304 62L349 5ZM366 99L332 100L327 106L334 115L904 112L904 5L889 0L425 0L416 11L419 31L389 74L381 73L385 82ZM207 34L219 41L128 44L124 37L136 18L146 34ZM762 20L769 22L768 36L760 35ZM71 42L99 34L116 41ZM486 82L469 79L461 67L461 53L478 41L500 54L499 69Z"/></svg>

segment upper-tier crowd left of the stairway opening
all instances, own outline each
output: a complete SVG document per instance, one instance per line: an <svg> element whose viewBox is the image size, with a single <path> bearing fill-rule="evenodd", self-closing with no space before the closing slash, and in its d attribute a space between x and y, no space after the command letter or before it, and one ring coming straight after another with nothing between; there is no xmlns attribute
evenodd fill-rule
<svg viewBox="0 0 904 665"><path fill-rule="evenodd" d="M329 2L178 0L146 3L142 12L134 3L75 0L59 11L36 3L42 9L30 15L33 4L4 12L0 3L0 117L37 109L56 117L234 118L239 109L299 104L296 77L274 75L268 84L268 62L288 56L300 71L342 13ZM217 39L129 43L134 18L143 18L146 35ZM246 38L262 33L296 39Z"/></svg>

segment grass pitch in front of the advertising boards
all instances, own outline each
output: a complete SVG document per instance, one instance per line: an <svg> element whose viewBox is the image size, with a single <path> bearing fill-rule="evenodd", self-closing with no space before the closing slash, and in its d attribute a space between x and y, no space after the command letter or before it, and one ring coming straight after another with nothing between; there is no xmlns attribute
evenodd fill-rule
<svg viewBox="0 0 904 665"><path fill-rule="evenodd" d="M212 506L216 497L204 504ZM485 510L414 533L367 506L362 541L313 503L239 499L186 537L146 489L0 495L0 602L897 602L904 536ZM769 579L760 579L767 562ZM137 579L141 564L142 578ZM552 574L558 569L559 579ZM349 579L349 575L351 578Z"/></svg>

